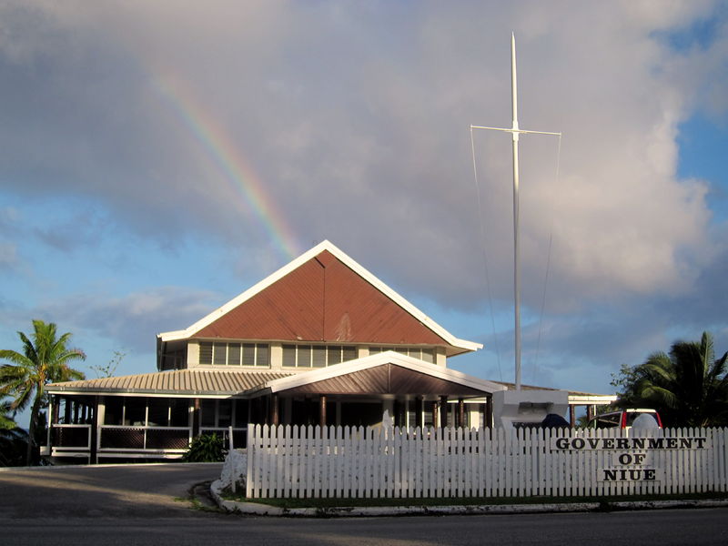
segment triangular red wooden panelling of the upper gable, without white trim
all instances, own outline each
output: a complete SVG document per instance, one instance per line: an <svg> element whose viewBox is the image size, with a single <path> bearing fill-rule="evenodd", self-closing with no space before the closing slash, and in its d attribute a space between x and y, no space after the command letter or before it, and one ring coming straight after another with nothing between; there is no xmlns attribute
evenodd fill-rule
<svg viewBox="0 0 728 546"><path fill-rule="evenodd" d="M446 345L324 250L196 337Z"/></svg>

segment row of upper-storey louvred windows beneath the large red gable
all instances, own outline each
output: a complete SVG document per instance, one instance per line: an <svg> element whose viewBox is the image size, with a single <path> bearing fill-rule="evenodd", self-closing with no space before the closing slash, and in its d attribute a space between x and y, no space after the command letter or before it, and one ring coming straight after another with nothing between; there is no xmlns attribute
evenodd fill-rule
<svg viewBox="0 0 728 546"><path fill-rule="evenodd" d="M433 349L407 347L370 347L369 354L393 350L425 362L435 361ZM286 368L326 368L357 358L353 345L284 345ZM215 366L270 366L270 348L266 343L226 343L201 341L199 363Z"/></svg>

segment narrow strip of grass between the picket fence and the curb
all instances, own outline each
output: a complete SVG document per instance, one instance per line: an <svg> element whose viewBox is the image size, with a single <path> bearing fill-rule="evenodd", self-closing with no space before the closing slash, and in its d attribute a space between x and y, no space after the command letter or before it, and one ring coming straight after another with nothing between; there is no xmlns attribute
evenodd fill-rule
<svg viewBox="0 0 728 546"><path fill-rule="evenodd" d="M613 502L622 501L700 501L728 499L728 493L682 493L672 495L630 495L613 497L448 497L420 499L247 499L241 494L224 491L226 501L257 502L278 508L335 508L371 506L498 506L504 504L567 504L572 502L598 502L602 510L609 510Z"/></svg>

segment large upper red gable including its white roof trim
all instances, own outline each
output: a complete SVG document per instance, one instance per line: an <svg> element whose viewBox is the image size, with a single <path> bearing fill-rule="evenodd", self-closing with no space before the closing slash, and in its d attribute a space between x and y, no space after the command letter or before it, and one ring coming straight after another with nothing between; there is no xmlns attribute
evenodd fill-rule
<svg viewBox="0 0 728 546"><path fill-rule="evenodd" d="M281 268L174 339L480 345L453 337L328 241Z"/></svg>

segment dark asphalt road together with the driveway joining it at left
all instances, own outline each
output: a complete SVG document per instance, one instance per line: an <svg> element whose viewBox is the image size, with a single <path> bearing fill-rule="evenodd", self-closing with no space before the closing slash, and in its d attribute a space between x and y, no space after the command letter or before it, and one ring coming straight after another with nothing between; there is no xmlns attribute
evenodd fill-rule
<svg viewBox="0 0 728 546"><path fill-rule="evenodd" d="M724 545L728 510L252 518L176 501L219 465L0 471L0 544Z"/></svg>

